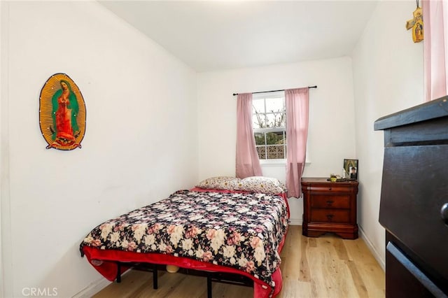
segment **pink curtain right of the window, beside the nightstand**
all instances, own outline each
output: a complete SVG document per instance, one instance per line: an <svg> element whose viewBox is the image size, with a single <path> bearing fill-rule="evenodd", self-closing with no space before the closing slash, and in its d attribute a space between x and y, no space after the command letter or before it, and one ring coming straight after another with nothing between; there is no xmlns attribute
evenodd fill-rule
<svg viewBox="0 0 448 298"><path fill-rule="evenodd" d="M286 102L286 187L288 197L302 196L302 178L307 155L309 89L285 90Z"/></svg>

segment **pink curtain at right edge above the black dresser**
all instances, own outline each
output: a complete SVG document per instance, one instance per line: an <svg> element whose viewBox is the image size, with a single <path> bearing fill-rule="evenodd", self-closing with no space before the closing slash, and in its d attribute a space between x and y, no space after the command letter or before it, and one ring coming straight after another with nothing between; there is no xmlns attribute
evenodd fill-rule
<svg viewBox="0 0 448 298"><path fill-rule="evenodd" d="M425 101L448 93L448 0L423 0Z"/></svg>

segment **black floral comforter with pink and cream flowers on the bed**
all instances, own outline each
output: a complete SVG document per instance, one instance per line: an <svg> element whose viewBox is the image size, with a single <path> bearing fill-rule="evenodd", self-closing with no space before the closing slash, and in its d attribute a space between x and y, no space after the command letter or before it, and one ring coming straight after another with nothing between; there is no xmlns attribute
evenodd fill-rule
<svg viewBox="0 0 448 298"><path fill-rule="evenodd" d="M244 271L274 288L287 208L276 195L179 190L95 227L80 250L188 257Z"/></svg>

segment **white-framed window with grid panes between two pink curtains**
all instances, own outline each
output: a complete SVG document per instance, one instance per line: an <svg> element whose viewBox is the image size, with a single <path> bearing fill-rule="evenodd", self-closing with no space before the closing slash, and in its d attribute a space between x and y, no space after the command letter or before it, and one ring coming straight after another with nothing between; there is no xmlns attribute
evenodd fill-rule
<svg viewBox="0 0 448 298"><path fill-rule="evenodd" d="M252 121L260 160L286 159L286 108L284 92L254 94Z"/></svg>

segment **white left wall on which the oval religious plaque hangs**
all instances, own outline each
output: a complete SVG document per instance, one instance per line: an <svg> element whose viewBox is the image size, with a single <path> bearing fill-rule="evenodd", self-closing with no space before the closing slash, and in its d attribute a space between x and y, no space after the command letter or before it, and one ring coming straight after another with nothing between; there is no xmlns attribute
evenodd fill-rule
<svg viewBox="0 0 448 298"><path fill-rule="evenodd" d="M71 297L100 278L78 251L94 225L197 181L196 73L94 1L2 5L3 294ZM82 149L45 149L38 96L58 72L85 99Z"/></svg>

